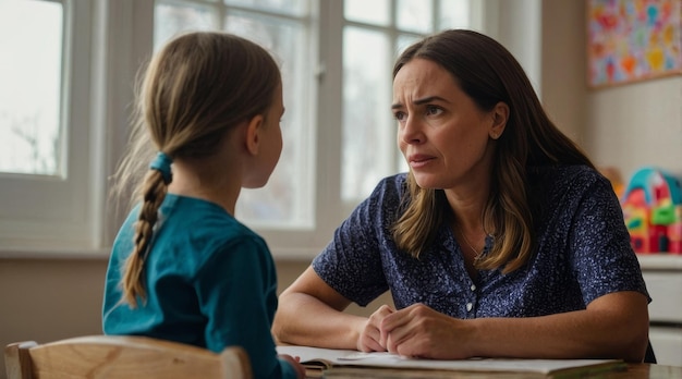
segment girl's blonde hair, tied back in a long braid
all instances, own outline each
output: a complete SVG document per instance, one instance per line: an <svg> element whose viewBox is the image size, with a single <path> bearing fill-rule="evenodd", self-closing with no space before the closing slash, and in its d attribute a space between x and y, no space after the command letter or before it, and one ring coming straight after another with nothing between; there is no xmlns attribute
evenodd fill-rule
<svg viewBox="0 0 682 379"><path fill-rule="evenodd" d="M123 301L146 298L143 267L168 182L149 170L157 152L170 159L217 152L233 126L267 112L281 83L275 59L260 46L219 32L194 32L169 41L149 62L137 87L136 119L112 194L135 188L142 201L135 247L125 261Z"/></svg>

